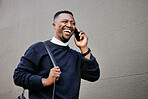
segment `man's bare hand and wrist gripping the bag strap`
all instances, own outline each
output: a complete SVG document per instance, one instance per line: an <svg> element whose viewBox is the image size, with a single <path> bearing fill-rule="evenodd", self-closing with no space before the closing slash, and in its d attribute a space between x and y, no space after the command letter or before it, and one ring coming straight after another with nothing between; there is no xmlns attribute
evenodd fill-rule
<svg viewBox="0 0 148 99"><path fill-rule="evenodd" d="M59 67L54 67L50 70L48 78L42 78L42 84L44 87L52 85L60 78L61 70Z"/></svg>

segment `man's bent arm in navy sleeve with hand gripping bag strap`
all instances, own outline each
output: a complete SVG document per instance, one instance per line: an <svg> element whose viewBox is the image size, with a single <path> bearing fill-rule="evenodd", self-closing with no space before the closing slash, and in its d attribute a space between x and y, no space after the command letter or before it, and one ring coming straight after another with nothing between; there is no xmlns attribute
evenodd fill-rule
<svg viewBox="0 0 148 99"><path fill-rule="evenodd" d="M38 52L44 50L44 45L42 43L37 45L39 45L39 48L42 48ZM25 89L39 90L58 81L61 71L59 67L54 67L50 70L48 78L37 75L36 70L41 56L34 46L35 45L32 45L21 58L20 63L14 70L13 79L16 85L24 87Z"/></svg>

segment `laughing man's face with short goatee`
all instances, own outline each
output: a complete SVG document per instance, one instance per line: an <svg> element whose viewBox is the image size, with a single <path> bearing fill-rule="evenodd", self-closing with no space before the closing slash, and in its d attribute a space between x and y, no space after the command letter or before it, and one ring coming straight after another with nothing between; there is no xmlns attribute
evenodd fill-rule
<svg viewBox="0 0 148 99"><path fill-rule="evenodd" d="M68 42L75 30L75 21L71 14L62 13L53 23L55 37L62 42Z"/></svg>

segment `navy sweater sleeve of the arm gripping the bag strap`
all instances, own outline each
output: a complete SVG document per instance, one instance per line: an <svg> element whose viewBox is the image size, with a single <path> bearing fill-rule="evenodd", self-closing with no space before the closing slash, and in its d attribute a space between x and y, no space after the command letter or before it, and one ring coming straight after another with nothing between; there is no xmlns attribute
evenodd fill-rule
<svg viewBox="0 0 148 99"><path fill-rule="evenodd" d="M25 52L14 70L13 79L16 85L30 90L40 90L43 88L42 77L36 75L39 58L33 46Z"/></svg>

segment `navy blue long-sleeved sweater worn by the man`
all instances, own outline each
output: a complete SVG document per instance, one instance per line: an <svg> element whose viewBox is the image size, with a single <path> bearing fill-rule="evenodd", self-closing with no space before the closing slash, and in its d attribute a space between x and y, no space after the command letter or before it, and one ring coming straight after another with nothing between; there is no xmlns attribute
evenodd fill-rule
<svg viewBox="0 0 148 99"><path fill-rule="evenodd" d="M69 46L46 41L61 70L56 82L55 99L78 99L81 78L96 81L100 70L96 59L88 60ZM53 85L44 87L41 79L47 78L53 68L45 46L38 42L29 47L14 71L14 83L29 90L29 99L51 99Z"/></svg>

